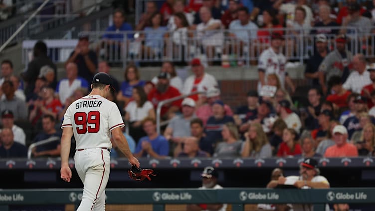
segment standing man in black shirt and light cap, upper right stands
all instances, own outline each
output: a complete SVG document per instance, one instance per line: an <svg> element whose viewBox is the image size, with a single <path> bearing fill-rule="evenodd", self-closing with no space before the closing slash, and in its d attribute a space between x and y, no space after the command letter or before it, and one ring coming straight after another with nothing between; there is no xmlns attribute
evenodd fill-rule
<svg viewBox="0 0 375 211"><path fill-rule="evenodd" d="M305 77L310 79L312 86L319 86L319 65L328 54L327 36L318 34L315 36L316 53L307 61Z"/></svg>

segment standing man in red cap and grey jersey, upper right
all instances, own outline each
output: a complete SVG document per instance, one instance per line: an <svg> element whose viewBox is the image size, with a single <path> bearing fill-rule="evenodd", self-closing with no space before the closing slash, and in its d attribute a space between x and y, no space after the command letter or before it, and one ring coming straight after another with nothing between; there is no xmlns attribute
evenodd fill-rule
<svg viewBox="0 0 375 211"><path fill-rule="evenodd" d="M327 93L326 81L333 75L339 75L344 83L352 69L353 54L346 50L347 37L339 34L336 38L336 49L330 52L319 66L319 84L324 94Z"/></svg>

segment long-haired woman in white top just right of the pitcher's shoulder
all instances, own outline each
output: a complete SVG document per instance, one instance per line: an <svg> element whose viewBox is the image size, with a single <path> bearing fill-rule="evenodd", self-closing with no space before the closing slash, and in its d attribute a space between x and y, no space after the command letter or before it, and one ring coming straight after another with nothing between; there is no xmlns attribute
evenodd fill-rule
<svg viewBox="0 0 375 211"><path fill-rule="evenodd" d="M141 137L146 136L142 120L146 117L155 119L155 111L153 104L147 100L143 87L133 87L133 99L125 107L125 120L129 123L129 135L138 143Z"/></svg>

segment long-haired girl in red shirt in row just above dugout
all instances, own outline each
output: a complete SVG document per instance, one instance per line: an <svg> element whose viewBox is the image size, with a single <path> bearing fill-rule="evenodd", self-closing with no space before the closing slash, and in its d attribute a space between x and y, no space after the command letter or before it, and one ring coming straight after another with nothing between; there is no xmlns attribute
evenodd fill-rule
<svg viewBox="0 0 375 211"><path fill-rule="evenodd" d="M277 157L293 157L301 155L301 145L296 142L297 132L292 128L286 128L283 131L283 142L280 144Z"/></svg>

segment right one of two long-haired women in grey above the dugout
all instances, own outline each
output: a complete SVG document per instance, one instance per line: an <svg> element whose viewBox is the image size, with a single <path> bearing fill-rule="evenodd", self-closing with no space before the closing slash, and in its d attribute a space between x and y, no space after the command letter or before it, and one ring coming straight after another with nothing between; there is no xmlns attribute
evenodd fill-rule
<svg viewBox="0 0 375 211"><path fill-rule="evenodd" d="M244 136L245 142L241 152L243 158L270 158L272 156L271 145L261 124L251 123Z"/></svg>

